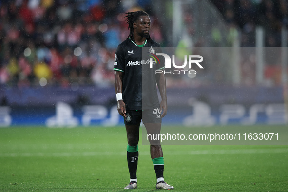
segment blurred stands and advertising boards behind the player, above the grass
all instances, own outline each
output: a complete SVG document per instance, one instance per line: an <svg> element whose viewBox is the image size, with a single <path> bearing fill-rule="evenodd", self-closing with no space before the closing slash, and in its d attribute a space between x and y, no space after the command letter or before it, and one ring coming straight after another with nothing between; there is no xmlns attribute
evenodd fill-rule
<svg viewBox="0 0 288 192"><path fill-rule="evenodd" d="M163 123L287 124L287 0L8 0L0 2L0 126L122 124L112 63L128 37L124 13L138 9L162 47L236 53L233 62L211 56L217 65L205 78L167 75L173 111Z"/></svg>

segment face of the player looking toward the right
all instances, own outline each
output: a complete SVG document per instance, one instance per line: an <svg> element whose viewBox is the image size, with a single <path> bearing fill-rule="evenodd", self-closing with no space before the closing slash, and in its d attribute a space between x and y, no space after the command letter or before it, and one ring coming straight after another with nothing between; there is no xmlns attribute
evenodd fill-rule
<svg viewBox="0 0 288 192"><path fill-rule="evenodd" d="M150 18L148 16L140 16L139 19L134 23L136 34L143 38L149 37L150 23Z"/></svg>

